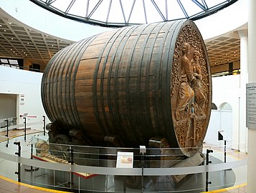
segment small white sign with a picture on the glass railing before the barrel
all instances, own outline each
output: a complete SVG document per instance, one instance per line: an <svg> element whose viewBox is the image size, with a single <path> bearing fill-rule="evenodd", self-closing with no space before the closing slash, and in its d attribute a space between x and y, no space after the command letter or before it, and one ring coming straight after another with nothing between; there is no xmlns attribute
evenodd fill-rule
<svg viewBox="0 0 256 193"><path fill-rule="evenodd" d="M133 168L133 152L118 152L116 167Z"/></svg>

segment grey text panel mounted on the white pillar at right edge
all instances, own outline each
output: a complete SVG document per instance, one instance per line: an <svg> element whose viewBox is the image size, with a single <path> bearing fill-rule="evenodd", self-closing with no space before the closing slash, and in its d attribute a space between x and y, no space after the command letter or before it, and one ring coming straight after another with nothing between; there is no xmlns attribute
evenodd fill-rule
<svg viewBox="0 0 256 193"><path fill-rule="evenodd" d="M256 82L246 84L246 127L256 129Z"/></svg>

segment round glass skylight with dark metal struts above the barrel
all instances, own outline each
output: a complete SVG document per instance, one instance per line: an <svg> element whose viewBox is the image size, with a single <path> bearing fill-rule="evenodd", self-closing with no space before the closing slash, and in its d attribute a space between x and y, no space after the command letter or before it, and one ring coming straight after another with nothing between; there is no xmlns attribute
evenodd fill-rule
<svg viewBox="0 0 256 193"><path fill-rule="evenodd" d="M238 0L30 0L54 14L105 27L201 19Z"/></svg>

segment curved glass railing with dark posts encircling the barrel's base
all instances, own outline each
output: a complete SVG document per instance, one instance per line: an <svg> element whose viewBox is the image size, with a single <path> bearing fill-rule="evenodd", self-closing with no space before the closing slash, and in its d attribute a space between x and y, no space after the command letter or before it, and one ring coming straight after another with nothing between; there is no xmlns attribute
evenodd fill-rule
<svg viewBox="0 0 256 193"><path fill-rule="evenodd" d="M67 192L206 192L246 182L246 153L227 146L185 149L51 144L47 135L0 143L1 175ZM19 150L20 149L20 150ZM19 156L20 155L20 156Z"/></svg>

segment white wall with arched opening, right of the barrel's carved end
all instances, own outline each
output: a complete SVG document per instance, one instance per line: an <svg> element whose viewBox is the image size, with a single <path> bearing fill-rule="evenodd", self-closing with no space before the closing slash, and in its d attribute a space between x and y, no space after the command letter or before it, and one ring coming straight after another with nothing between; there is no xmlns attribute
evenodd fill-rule
<svg viewBox="0 0 256 193"><path fill-rule="evenodd" d="M240 128L240 75L232 75L232 76L218 76L212 78L212 102L216 104L218 109L220 109L221 105L225 102L229 103L232 107L232 118L228 114L229 119L232 119L231 126L232 127L232 148L234 149L244 149L245 144L241 146L241 143L245 143L246 129ZM228 125L224 125L223 122L225 120L220 120L219 111L212 111L212 117L210 119L210 124L207 130L207 135L205 138L205 142L211 144L214 139L211 137L215 137L217 131L228 129ZM227 117L225 118L227 119ZM222 128L217 128L222 124ZM240 134L240 130L243 129ZM216 141L214 141L214 144Z"/></svg>

